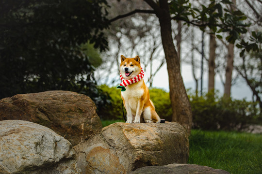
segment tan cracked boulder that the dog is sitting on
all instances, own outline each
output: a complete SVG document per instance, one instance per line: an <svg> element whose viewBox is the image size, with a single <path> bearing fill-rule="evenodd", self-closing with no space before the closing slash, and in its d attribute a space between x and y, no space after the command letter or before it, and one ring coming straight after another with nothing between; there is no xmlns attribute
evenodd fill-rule
<svg viewBox="0 0 262 174"><path fill-rule="evenodd" d="M114 123L74 146L83 174L127 174L147 165L186 163L189 141L178 123Z"/></svg>

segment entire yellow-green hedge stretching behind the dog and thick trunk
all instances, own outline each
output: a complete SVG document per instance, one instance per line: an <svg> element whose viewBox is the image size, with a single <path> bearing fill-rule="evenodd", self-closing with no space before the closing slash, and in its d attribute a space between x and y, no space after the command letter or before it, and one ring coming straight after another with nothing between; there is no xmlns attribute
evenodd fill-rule
<svg viewBox="0 0 262 174"><path fill-rule="evenodd" d="M101 119L123 119L121 92L116 87L100 86L106 92L111 104L98 111ZM149 89L150 99L156 112L166 121L172 121L172 109L169 93L163 89ZM249 124L262 123L262 116L256 102L232 100L207 93L201 97L189 95L193 114L193 128L203 130L237 130L245 129ZM124 109L126 116L126 110Z"/></svg>

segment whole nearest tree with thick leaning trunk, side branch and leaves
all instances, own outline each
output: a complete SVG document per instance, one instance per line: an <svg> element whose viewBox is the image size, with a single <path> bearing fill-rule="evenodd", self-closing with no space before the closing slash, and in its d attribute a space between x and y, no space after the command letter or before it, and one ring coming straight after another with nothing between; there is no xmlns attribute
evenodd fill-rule
<svg viewBox="0 0 262 174"><path fill-rule="evenodd" d="M180 60L173 43L171 20L182 20L201 29L208 26L213 32L216 32L217 27L219 27L220 31L228 31L229 37L227 39L229 42L234 42L239 33L246 32L243 23L235 23L235 21L241 19L242 13L234 11L223 13L220 3L230 3L227 0L218 3L211 1L208 7L202 5L201 10L191 7L188 0L144 1L153 10L135 9L129 13L116 16L111 22L135 13L156 14L160 23L162 44L169 75L170 100L173 110L172 120L179 122L190 132L192 124L191 106L180 74ZM233 21L228 20L229 18L233 19ZM232 27L235 29L232 30Z"/></svg>

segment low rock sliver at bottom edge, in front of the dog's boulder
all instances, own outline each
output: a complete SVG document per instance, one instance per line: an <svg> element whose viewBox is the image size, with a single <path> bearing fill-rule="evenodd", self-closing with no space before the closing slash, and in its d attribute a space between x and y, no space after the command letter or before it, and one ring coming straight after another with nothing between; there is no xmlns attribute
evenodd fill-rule
<svg viewBox="0 0 262 174"><path fill-rule="evenodd" d="M230 174L227 171L213 169L196 164L168 164L164 166L146 166L130 174Z"/></svg>

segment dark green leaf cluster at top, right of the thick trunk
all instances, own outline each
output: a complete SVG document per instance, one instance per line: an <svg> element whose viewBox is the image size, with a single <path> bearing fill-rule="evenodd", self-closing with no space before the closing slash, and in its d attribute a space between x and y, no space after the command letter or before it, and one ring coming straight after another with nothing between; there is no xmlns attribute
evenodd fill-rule
<svg viewBox="0 0 262 174"><path fill-rule="evenodd" d="M170 14L174 20L182 20L187 24L199 27L205 30L210 28L216 37L221 39L218 33L227 32L227 41L235 43L240 39L240 34L246 33L245 14L239 10L229 10L227 5L232 5L229 0L210 0L208 5L201 4L201 10L193 7L189 0L172 0L170 2Z"/></svg>

